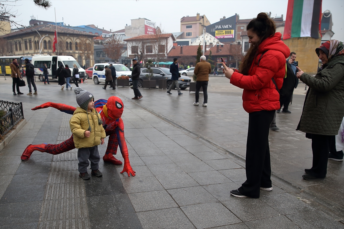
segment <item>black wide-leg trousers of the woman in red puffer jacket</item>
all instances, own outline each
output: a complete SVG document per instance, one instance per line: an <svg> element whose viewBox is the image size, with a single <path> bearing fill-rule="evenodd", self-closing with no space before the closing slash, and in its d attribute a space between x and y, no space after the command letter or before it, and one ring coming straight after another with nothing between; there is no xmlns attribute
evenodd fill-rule
<svg viewBox="0 0 344 229"><path fill-rule="evenodd" d="M259 198L260 187L272 187L269 127L275 112L256 111L248 114L246 181L239 192L251 198Z"/></svg>

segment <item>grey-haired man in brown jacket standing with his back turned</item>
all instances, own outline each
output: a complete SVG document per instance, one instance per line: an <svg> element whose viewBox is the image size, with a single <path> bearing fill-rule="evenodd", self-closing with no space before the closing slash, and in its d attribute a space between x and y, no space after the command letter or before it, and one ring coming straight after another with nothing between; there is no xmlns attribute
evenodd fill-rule
<svg viewBox="0 0 344 229"><path fill-rule="evenodd" d="M200 60L201 62L198 62L196 64L196 67L194 70L194 73L197 76L197 78L196 78L196 93L195 93L196 101L193 104L195 106L200 105L198 103L198 99L200 98L200 89L202 87L203 96L204 96L202 106L207 106L207 102L208 102L207 88L208 88L209 74L212 72L212 67L210 63L205 61L205 56L201 56Z"/></svg>

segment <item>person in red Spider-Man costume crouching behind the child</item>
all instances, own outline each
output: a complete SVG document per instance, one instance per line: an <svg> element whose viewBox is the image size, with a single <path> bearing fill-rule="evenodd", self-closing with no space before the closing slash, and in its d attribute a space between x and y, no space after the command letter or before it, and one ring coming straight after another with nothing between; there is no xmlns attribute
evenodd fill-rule
<svg viewBox="0 0 344 229"><path fill-rule="evenodd" d="M103 157L104 162L112 163L116 165L121 165L122 162L117 160L112 154L117 153L117 147L119 146L122 157L124 159L123 172L127 172L128 176L130 174L135 176L135 171L132 170L128 157L128 147L124 139L124 125L121 119L123 113L123 102L120 98L116 96L111 96L108 100L100 99L95 101L94 106L97 112L101 116L103 121L103 128L105 129L106 136L109 136L108 146ZM31 110L39 110L46 107L54 107L57 110L65 112L67 114L73 115L76 110L75 107L69 106L62 103L52 103L47 102L42 105L36 106ZM50 154L60 154L67 152L69 150L75 149L73 135L69 139L65 140L60 144L39 144L39 145L29 145L24 150L21 160L29 160L33 151L38 150L40 152L47 152Z"/></svg>

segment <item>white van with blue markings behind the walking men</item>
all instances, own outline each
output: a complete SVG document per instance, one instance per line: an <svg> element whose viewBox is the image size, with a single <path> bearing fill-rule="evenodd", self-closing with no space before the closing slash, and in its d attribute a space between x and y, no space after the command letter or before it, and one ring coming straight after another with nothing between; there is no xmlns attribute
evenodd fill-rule
<svg viewBox="0 0 344 229"><path fill-rule="evenodd" d="M105 82L105 66L110 66L109 63L99 63L93 66L92 79L94 84ZM112 63L116 69L116 78L120 76L129 76L131 80L131 71L125 65ZM113 79L114 82L116 79ZM116 82L115 82L116 83Z"/></svg>

